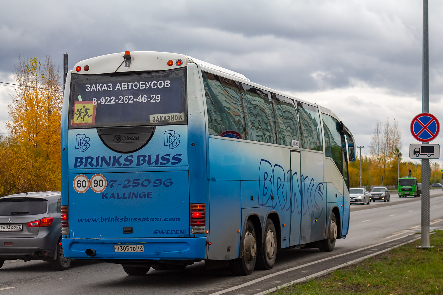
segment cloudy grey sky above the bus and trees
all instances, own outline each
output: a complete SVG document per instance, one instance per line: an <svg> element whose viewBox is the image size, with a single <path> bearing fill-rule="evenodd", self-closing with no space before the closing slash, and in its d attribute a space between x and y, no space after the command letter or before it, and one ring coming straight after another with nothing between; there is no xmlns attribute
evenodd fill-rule
<svg viewBox="0 0 443 295"><path fill-rule="evenodd" d="M443 1L429 1L430 112L443 120ZM334 111L369 154L377 121L398 120L402 153L421 112L422 1L4 1L0 82L21 57L62 69L124 50L187 54ZM0 85L0 122L14 88ZM7 132L0 124L0 132ZM432 143L443 143L440 135ZM443 147L443 146L442 146ZM405 158L404 158L405 159ZM441 161L437 160L438 162Z"/></svg>

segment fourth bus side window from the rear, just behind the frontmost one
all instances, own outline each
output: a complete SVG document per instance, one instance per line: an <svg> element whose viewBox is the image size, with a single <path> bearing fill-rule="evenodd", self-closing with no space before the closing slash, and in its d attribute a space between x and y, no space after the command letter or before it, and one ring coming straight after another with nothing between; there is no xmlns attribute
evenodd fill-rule
<svg viewBox="0 0 443 295"><path fill-rule="evenodd" d="M297 109L302 129L302 148L323 151L319 109L299 101L297 101Z"/></svg>

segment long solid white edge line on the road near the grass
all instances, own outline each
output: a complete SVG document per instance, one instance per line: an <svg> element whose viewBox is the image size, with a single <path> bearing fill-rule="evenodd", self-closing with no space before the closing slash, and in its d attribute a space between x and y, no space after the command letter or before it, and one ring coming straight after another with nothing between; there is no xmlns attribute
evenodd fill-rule
<svg viewBox="0 0 443 295"><path fill-rule="evenodd" d="M395 238L395 239L392 239L392 240L389 240L389 241L384 241L384 242L381 242L381 243L378 243L378 244L375 244L375 245L367 246L367 247L360 248L360 249L357 249L357 250L353 250L353 251L350 251L350 252L346 252L346 253L338 254L338 255L335 255L335 256L331 256L331 257L326 257L326 258L323 258L323 259L320 259L320 260L317 260L317 261L312 261L312 262L309 262L309 263L306 263L306 264L302 264L302 265L295 266L295 267L292 267L292 268L284 269L284 270L282 270L282 271L280 271L280 272L274 272L274 273L271 273L271 274L269 274L269 275L267 275L267 276L262 276L261 278L258 278L258 279L255 279L255 280L252 280L252 281L246 282L246 283L241 284L241 285L237 285L237 286L234 286L234 287L230 287L230 288L227 288L227 289L225 289L225 290L217 291L217 292L211 293L211 294L209 294L209 295L220 295L220 294L224 294L224 293L227 293L227 292L229 292L229 291L237 290L237 289L240 289L240 288L242 288L242 287L246 287L246 286L249 286L249 285L252 285L252 284L258 283L258 282L260 282L260 281L262 281L262 280L266 280L266 279L271 278L271 277L273 277L273 276L278 276L278 275L281 275L281 274L286 273L286 272L291 272L291 271L293 271L293 270L295 270L295 269L304 268L304 267L309 266L309 265L312 265L312 264L317 264L317 263L320 263L320 262L323 262L323 261L327 261L327 260L330 260L330 259L333 259L333 258L337 258L337 257L341 257L341 256L348 255L348 254L351 254L351 253L359 252L359 251L362 251L362 250L365 250L365 249L369 249L369 248L372 248L372 247L377 247L377 246L379 246L379 245L383 245L383 244L385 244L385 243L389 243L389 242L392 242L392 241L395 241L395 240L398 240L398 239L401 239L401 238L405 238L405 237L408 237L408 236L410 236L410 235L411 235L411 234L407 234L407 235L405 235L405 236L402 236L402 237L399 237L399 238ZM415 240L414 240L414 241L415 241ZM408 243L409 243L409 242L408 242ZM402 245L404 245L404 244L402 244ZM392 248L389 248L389 250L390 250L390 249L392 249ZM377 253L383 253L383 251L385 251L385 250L381 250L381 251L379 251L379 252L377 252ZM365 257L370 257L371 255L373 255L373 254L369 254L369 255L367 255L367 256L365 256ZM365 259L366 259L366 258L365 258ZM302 280L304 280L304 278L303 278ZM282 286L289 286L289 285L286 284L286 285L282 285ZM268 291L269 291L269 290L268 290ZM264 291L263 293L260 293L260 294L266 294L265 292L268 292L268 291ZM274 290L274 291L275 291L275 290Z"/></svg>

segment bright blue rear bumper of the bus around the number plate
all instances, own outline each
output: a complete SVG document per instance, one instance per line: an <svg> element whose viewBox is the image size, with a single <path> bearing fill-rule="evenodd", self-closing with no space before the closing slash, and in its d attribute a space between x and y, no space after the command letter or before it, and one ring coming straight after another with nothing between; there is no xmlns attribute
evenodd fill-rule
<svg viewBox="0 0 443 295"><path fill-rule="evenodd" d="M119 244L122 243L122 244ZM144 252L115 252L114 245L144 245ZM135 244L137 243L137 244ZM187 259L206 258L206 237L200 238L63 238L63 253L71 259ZM94 257L86 249L94 249Z"/></svg>

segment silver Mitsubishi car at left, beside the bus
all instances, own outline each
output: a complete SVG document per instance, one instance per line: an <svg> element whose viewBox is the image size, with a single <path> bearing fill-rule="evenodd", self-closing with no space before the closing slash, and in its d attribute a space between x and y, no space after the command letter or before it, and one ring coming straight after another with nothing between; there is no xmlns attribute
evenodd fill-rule
<svg viewBox="0 0 443 295"><path fill-rule="evenodd" d="M30 192L0 198L0 268L5 260L49 261L70 267L63 255L60 192Z"/></svg>

